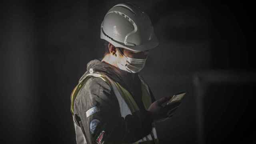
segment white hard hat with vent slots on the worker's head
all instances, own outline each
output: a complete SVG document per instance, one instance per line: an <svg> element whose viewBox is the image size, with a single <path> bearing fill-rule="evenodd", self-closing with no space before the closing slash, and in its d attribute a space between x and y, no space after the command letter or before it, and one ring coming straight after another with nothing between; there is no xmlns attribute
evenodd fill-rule
<svg viewBox="0 0 256 144"><path fill-rule="evenodd" d="M159 44L148 15L130 3L117 4L107 12L100 38L115 47L136 52L150 50Z"/></svg>

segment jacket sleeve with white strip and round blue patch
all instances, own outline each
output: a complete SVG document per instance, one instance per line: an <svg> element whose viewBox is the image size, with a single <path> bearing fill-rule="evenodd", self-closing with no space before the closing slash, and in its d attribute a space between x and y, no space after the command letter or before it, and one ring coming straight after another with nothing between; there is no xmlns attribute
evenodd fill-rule
<svg viewBox="0 0 256 144"><path fill-rule="evenodd" d="M89 78L78 93L75 108L88 144L133 143L152 129L153 120L146 110L122 118L113 90L101 78Z"/></svg>

